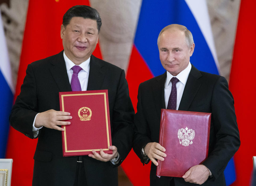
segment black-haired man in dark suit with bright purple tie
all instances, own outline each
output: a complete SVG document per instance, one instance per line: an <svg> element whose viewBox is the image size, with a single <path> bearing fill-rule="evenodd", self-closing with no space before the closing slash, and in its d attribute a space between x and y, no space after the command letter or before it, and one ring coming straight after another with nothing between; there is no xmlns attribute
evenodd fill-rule
<svg viewBox="0 0 256 186"><path fill-rule="evenodd" d="M38 137L33 185L118 185L117 166L132 147L134 110L124 70L91 55L100 27L97 10L71 7L61 25L64 51L27 67L10 124L31 139ZM113 154L101 149L100 154L63 157L60 126L73 123L65 121L72 119L70 113L59 111L59 92L74 91L73 66L80 69L80 90L108 90Z"/></svg>

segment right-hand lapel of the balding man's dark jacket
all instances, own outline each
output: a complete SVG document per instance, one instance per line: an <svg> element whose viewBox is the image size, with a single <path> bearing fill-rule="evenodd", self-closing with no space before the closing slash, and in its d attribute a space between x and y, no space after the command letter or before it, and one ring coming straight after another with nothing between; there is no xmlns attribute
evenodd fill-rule
<svg viewBox="0 0 256 186"><path fill-rule="evenodd" d="M188 110L202 82L199 80L201 73L193 65L191 67L187 83L185 85L178 110Z"/></svg>

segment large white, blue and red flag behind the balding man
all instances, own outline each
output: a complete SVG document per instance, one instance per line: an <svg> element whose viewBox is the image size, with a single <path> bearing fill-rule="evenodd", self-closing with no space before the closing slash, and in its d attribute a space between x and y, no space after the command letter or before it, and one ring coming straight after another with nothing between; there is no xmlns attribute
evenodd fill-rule
<svg viewBox="0 0 256 186"><path fill-rule="evenodd" d="M201 71L219 74L218 60L205 0L157 2L144 0L141 5L134 46L126 77L134 108L137 105L139 84L165 72L159 60L157 38L159 32L169 24L184 25L193 34L195 50L190 58L190 62ZM124 164L125 166L123 165L122 167L134 185L145 184L145 180L141 182L136 177L133 177L134 175L131 175L127 168L129 165L126 165L125 162ZM149 166L146 166L146 169L149 171ZM226 184L230 185L235 180L233 158L226 170L224 172ZM145 168L137 172L140 179L141 174L144 174L143 172L145 172ZM146 178L149 179L149 172L147 172L147 175Z"/></svg>

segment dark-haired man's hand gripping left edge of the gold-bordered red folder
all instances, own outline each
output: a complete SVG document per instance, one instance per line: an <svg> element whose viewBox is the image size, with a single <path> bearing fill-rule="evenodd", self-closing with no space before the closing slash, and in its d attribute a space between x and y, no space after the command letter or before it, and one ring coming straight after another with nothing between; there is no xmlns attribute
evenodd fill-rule
<svg viewBox="0 0 256 186"><path fill-rule="evenodd" d="M47 127L56 129L58 131L64 131L63 128L59 127L58 125L69 125L70 122L64 122L61 120L67 120L72 119L72 116L70 116L70 113L68 112L62 112L62 111L56 111L56 110L47 110L45 112L39 113L37 117L35 118L35 127Z"/></svg>

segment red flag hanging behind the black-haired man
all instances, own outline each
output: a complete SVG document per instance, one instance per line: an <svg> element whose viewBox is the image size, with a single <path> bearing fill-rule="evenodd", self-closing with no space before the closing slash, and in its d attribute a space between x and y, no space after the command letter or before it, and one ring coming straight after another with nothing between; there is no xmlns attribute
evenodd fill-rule
<svg viewBox="0 0 256 186"><path fill-rule="evenodd" d="M70 7L75 5L89 5L89 1L29 1L14 100L20 93L27 65L63 50L60 37L62 17ZM101 58L98 45L93 54ZM10 128L6 158L13 158L12 185L32 184L36 144L37 140L29 139Z"/></svg>

